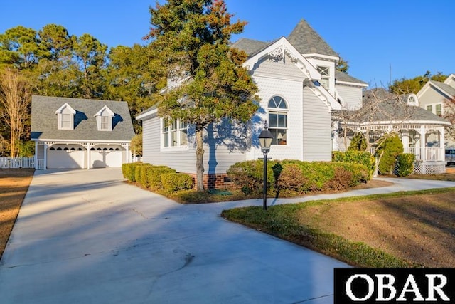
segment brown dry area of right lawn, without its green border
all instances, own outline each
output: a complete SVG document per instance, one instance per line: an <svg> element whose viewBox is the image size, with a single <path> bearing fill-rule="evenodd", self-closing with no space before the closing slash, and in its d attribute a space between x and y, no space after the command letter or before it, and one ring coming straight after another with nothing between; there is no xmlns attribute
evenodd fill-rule
<svg viewBox="0 0 455 304"><path fill-rule="evenodd" d="M455 265L455 191L328 203L300 209L299 223L360 241L425 267Z"/></svg>

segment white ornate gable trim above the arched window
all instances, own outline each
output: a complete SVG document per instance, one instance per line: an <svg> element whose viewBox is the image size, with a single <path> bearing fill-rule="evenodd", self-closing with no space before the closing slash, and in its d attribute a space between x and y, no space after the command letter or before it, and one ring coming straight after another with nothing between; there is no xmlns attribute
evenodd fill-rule
<svg viewBox="0 0 455 304"><path fill-rule="evenodd" d="M319 80L321 75L318 73L316 68L314 68L309 61L302 56L299 51L294 48L294 46L287 41L287 38L279 38L274 43L271 43L269 46L264 48L262 51L259 51L254 56L248 58L244 63L244 66L248 70L252 70L262 58L265 56L270 56L270 59L274 62L286 60L286 56L291 58L291 61L302 71L306 78Z"/></svg>

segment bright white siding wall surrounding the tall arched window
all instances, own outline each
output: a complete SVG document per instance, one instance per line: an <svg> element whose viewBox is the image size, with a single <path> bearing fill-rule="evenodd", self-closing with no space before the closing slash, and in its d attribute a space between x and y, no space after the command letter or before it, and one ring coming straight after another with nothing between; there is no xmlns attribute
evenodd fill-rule
<svg viewBox="0 0 455 304"><path fill-rule="evenodd" d="M281 67L283 63L275 63L277 68ZM262 68L262 66L261 66ZM269 68L269 66L267 67ZM287 74L289 78L290 74ZM287 145L272 145L269 153L269 157L273 159L301 159L302 158L302 74L296 80L289 79L277 79L267 77L254 77L255 83L260 88L259 98L261 98L261 109L253 121L255 126L253 129L253 147L247 154L247 159L257 159L262 157L260 151L259 142L257 137L262 130L264 120L268 120L267 105L270 98L275 95L279 95L287 102Z"/></svg>

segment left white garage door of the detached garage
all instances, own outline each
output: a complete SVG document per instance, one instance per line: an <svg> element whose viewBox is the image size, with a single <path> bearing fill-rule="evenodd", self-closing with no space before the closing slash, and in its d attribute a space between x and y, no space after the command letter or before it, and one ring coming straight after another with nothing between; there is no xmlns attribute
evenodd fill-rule
<svg viewBox="0 0 455 304"><path fill-rule="evenodd" d="M85 151L80 147L50 147L48 149L49 169L82 169L84 168Z"/></svg>

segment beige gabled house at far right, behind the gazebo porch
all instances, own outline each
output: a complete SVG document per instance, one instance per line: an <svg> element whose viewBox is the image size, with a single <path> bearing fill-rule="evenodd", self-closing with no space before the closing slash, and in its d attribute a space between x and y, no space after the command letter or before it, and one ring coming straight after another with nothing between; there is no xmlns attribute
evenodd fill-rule
<svg viewBox="0 0 455 304"><path fill-rule="evenodd" d="M448 100L455 97L455 74L449 75L444 83L429 80L417 93L419 106L440 117L446 115L449 109L444 106ZM445 147L455 148L455 142L446 138Z"/></svg>

